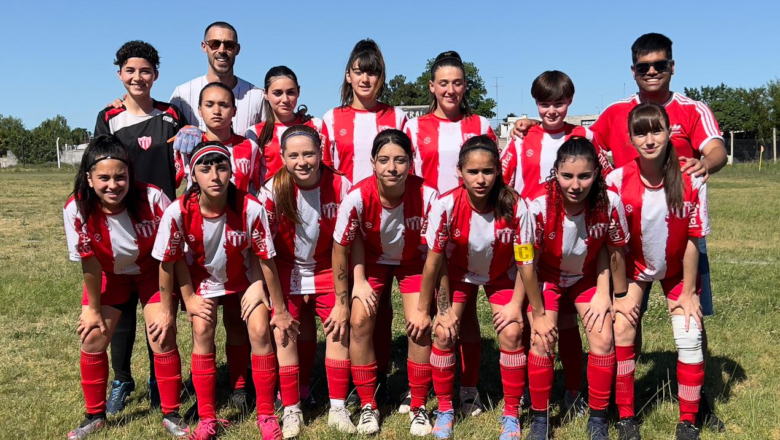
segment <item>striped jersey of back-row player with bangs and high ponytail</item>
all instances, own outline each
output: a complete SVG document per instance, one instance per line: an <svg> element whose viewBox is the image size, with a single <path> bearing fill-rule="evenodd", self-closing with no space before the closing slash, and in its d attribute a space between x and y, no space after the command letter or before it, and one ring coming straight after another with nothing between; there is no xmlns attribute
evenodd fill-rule
<svg viewBox="0 0 780 440"><path fill-rule="evenodd" d="M403 130L406 112L381 102L371 110L343 106L328 110L322 122L330 136L330 148L323 148L323 162L357 183L373 172L371 147L376 135L389 128Z"/></svg>

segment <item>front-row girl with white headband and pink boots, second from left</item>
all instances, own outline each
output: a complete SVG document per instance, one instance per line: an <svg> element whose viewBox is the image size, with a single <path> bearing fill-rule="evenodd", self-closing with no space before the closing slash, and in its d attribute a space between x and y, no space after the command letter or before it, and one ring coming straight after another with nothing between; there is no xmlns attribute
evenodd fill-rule
<svg viewBox="0 0 780 440"><path fill-rule="evenodd" d="M238 190L230 181L230 152L221 143L198 144L191 164L192 186L165 210L153 250L154 257L162 262L162 294L169 295L175 270L192 322L192 382L200 424L190 438L212 439L218 425L226 424L216 418L215 402L214 333L217 307L222 304L225 309L235 310L231 316L240 316L247 322L257 392L257 424L264 439L278 439L281 430L273 415L276 358L270 328L276 326L277 331L294 338L297 322L282 300L267 214L257 199ZM270 307L259 282L262 278L273 301L274 317L270 322ZM261 303L265 305L259 306Z"/></svg>

